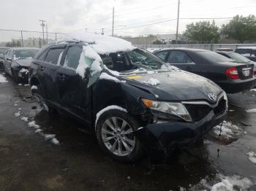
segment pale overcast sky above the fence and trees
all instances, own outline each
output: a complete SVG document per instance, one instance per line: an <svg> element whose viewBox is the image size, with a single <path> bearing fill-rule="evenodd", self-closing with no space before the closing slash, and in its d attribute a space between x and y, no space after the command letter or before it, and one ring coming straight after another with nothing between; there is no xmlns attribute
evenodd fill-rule
<svg viewBox="0 0 256 191"><path fill-rule="evenodd" d="M112 8L115 7L115 34L137 36L175 34L178 0L1 0L0 28L42 31L39 19L46 20L48 31L68 33L76 30L111 34ZM256 15L256 0L181 0L180 17L233 17ZM151 26L143 26L172 20ZM216 20L217 25L229 19ZM182 19L179 31L197 20ZM132 28L134 26L142 26ZM39 34L24 34L28 36ZM53 37L53 36L50 36ZM0 31L0 41L20 38L17 32Z"/></svg>

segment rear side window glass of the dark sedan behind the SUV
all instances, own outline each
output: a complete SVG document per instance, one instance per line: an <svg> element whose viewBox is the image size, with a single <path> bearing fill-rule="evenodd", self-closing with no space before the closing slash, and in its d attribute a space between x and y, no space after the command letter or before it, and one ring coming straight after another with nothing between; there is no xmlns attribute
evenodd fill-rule
<svg viewBox="0 0 256 191"><path fill-rule="evenodd" d="M187 53L179 51L179 50L172 50L170 55L167 59L168 63L192 63L192 60L189 58Z"/></svg>

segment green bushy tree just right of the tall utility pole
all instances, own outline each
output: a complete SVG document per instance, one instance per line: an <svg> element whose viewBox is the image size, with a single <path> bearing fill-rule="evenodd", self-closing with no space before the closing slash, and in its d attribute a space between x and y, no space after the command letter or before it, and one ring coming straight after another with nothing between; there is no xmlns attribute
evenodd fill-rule
<svg viewBox="0 0 256 191"><path fill-rule="evenodd" d="M212 23L203 20L187 25L186 31L183 33L184 39L187 41L211 41L218 42L220 39L219 27Z"/></svg>

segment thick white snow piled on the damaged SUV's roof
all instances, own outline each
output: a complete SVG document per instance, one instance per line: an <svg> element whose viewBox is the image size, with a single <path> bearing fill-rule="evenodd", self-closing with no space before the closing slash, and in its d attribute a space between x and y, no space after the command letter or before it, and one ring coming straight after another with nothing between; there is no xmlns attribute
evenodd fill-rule
<svg viewBox="0 0 256 191"><path fill-rule="evenodd" d="M68 39L86 42L98 53L109 54L135 49L131 42L113 36L90 34L85 32L73 32L67 35Z"/></svg>

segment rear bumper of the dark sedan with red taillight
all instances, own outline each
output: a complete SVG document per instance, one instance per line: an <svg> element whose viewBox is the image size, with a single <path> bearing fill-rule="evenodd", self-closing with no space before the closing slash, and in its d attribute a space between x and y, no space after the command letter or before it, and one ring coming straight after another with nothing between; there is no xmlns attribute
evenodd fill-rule
<svg viewBox="0 0 256 191"><path fill-rule="evenodd" d="M255 79L239 80L240 82L219 82L217 83L226 93L239 93L244 90L249 90L255 87Z"/></svg>

